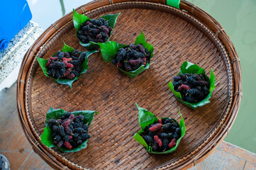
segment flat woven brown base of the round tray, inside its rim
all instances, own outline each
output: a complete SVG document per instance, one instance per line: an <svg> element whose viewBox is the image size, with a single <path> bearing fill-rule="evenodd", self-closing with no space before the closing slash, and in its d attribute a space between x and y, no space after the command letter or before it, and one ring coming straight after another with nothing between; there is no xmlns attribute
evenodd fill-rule
<svg viewBox="0 0 256 170"><path fill-rule="evenodd" d="M135 37L143 30L146 40L155 48L150 69L130 79L111 63L104 62L97 53L89 57L87 73L82 74L70 89L45 77L34 62L33 69L30 69L27 111L35 133L43 133L45 113L50 107L70 112L95 110L100 114L95 116L89 128L91 139L87 149L69 154L54 149L59 156L89 169L151 169L197 152L198 147L221 124L230 98L227 61L223 52L218 50L220 47L201 29L165 10L121 7L115 11L113 8L108 10L104 8L90 13L89 17L121 12L111 40L124 44L135 42ZM38 56L47 59L61 49L63 40L75 49L85 50L74 33L72 22L67 23ZM167 86L186 60L199 64L208 75L213 68L216 75L216 89L211 103L196 111L177 102ZM178 109L181 108L187 133L177 152L150 155L133 140L133 134L140 130L135 102L159 118L180 120Z"/></svg>

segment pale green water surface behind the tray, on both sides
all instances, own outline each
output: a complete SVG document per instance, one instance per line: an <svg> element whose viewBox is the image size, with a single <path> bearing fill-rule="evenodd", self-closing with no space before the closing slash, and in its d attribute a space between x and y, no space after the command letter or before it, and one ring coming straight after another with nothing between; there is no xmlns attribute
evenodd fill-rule
<svg viewBox="0 0 256 170"><path fill-rule="evenodd" d="M45 30L86 0L28 0L32 21ZM189 0L221 23L238 51L243 98L226 142L256 153L256 0ZM50 5L49 5L50 4Z"/></svg>

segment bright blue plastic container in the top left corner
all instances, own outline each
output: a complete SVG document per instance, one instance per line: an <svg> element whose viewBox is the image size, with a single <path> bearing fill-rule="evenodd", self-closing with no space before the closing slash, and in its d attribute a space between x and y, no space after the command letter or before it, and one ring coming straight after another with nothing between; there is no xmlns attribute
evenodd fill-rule
<svg viewBox="0 0 256 170"><path fill-rule="evenodd" d="M26 0L0 0L0 51L32 18Z"/></svg>

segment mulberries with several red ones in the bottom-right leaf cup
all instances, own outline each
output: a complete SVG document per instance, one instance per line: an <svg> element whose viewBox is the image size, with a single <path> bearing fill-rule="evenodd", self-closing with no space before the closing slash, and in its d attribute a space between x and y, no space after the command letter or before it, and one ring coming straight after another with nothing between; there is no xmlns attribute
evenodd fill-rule
<svg viewBox="0 0 256 170"><path fill-rule="evenodd" d="M153 152L165 152L176 146L176 142L181 137L179 123L172 118L159 119L157 123L148 125L144 129L143 139Z"/></svg>

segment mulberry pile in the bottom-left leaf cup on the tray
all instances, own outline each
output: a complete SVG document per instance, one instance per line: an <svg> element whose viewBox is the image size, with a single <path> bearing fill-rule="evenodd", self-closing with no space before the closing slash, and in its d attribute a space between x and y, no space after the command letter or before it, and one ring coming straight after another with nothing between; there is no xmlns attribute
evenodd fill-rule
<svg viewBox="0 0 256 170"><path fill-rule="evenodd" d="M49 126L52 130L52 141L57 147L76 148L90 138L84 115L65 113L60 119L50 119Z"/></svg>

